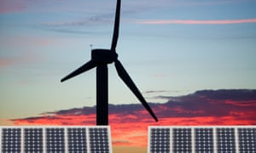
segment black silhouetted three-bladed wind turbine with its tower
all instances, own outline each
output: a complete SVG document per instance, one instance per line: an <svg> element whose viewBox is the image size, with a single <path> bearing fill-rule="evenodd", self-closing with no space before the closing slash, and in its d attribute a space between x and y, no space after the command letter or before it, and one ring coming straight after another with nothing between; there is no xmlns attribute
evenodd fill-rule
<svg viewBox="0 0 256 153"><path fill-rule="evenodd" d="M136 84L132 82L131 77L128 75L127 71L125 71L124 66L118 59L116 45L119 37L120 8L121 0L117 0L111 48L92 49L90 61L67 75L67 77L62 78L61 82L96 67L96 125L108 125L108 64L114 63L119 77L125 82L127 87L131 89L132 93L136 95L137 99L141 101L145 109L151 116L153 116L154 120L158 122L154 112L151 110Z"/></svg>

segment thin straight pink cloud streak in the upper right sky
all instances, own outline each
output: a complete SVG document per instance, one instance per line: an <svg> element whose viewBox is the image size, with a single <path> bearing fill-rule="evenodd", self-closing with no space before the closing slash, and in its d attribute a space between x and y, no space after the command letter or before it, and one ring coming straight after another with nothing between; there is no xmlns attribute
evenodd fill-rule
<svg viewBox="0 0 256 153"><path fill-rule="evenodd" d="M256 23L256 19L243 20L144 20L137 21L138 24L148 25L167 25L167 24L183 24L183 25L229 25Z"/></svg>

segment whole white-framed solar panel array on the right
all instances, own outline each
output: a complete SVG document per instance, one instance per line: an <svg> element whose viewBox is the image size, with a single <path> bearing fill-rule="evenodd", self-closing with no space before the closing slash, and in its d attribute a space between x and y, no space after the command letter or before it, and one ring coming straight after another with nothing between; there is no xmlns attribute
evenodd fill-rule
<svg viewBox="0 0 256 153"><path fill-rule="evenodd" d="M256 153L256 126L148 127L148 153Z"/></svg>

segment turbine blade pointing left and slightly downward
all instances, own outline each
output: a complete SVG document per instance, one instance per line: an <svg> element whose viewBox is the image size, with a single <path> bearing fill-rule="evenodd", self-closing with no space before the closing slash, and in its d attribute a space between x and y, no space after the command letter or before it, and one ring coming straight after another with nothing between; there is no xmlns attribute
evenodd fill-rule
<svg viewBox="0 0 256 153"><path fill-rule="evenodd" d="M67 77L62 78L61 82L64 82L67 79L70 79L71 77L78 76L79 74L83 73L84 71L89 71L90 69L92 69L94 67L96 67L96 62L93 60L90 60L89 62L87 62L84 65L82 65L81 67L79 67L79 69L77 69L76 71L73 71L72 73L67 75Z"/></svg>

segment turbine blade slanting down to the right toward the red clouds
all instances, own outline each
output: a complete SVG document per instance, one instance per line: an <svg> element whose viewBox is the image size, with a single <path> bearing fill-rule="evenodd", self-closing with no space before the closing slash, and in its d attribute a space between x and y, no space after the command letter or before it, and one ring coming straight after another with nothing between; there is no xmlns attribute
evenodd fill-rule
<svg viewBox="0 0 256 153"><path fill-rule="evenodd" d="M151 116L153 116L155 122L158 122L157 117L154 115L154 112L151 110L150 106L146 102L146 100L143 98L143 95L140 93L138 88L136 87L135 83L132 82L131 77L128 75L127 71L125 71L124 66L120 63L119 60L116 60L115 63L116 71L119 74L119 77L125 82L128 88L131 89L132 93L136 95L137 99L141 101L143 106L146 108L146 110L149 112Z"/></svg>

